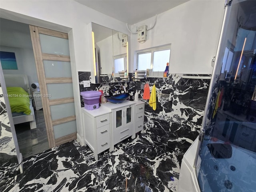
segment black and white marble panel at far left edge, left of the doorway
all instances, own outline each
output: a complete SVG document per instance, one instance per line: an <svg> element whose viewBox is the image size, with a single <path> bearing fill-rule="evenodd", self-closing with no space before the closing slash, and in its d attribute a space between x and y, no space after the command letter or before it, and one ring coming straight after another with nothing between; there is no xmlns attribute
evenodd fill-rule
<svg viewBox="0 0 256 192"><path fill-rule="evenodd" d="M20 173L2 87L0 86L0 185Z"/></svg>

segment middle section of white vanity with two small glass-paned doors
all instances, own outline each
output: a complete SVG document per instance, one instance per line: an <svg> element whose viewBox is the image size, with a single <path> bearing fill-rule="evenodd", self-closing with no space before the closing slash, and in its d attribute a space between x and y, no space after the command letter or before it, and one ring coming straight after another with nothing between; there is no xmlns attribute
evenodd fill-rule
<svg viewBox="0 0 256 192"><path fill-rule="evenodd" d="M134 132L134 102L125 101L123 103L107 102L101 108L112 111L111 114L111 146L110 151L114 150L114 145L133 135Z"/></svg>

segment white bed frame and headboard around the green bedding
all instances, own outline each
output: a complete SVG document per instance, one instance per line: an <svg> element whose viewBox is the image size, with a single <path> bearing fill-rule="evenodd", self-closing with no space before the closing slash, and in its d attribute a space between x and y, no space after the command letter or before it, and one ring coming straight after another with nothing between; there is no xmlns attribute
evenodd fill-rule
<svg viewBox="0 0 256 192"><path fill-rule="evenodd" d="M34 114L34 108L32 106L32 95L30 92L29 88L29 83L28 83L28 77L26 75L4 75L4 80L6 84L6 88L10 87L19 87L25 90L28 93L29 98L29 109L30 109L30 114L24 114L24 113L13 113L12 112L12 118L14 125L24 123L24 122L30 122L30 129L35 129L36 128L36 119L35 119L35 114ZM21 95L24 95L24 92L20 93ZM10 99L9 99L10 101ZM12 105L12 104L10 104Z"/></svg>

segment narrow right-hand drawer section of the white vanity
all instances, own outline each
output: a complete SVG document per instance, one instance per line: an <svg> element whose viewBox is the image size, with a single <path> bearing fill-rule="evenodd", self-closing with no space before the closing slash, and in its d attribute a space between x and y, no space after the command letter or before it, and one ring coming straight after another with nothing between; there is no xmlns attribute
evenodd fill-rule
<svg viewBox="0 0 256 192"><path fill-rule="evenodd" d="M132 138L135 138L135 134L139 131L143 132L144 128L144 110L145 102L137 101L135 103L135 112L134 112L134 132Z"/></svg>

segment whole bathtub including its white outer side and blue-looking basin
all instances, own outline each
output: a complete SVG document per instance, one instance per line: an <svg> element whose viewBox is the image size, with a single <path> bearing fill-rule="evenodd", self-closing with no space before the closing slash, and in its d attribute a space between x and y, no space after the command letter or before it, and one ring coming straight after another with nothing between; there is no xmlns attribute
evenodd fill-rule
<svg viewBox="0 0 256 192"><path fill-rule="evenodd" d="M205 136L196 169L193 163L198 138L182 159L177 192L255 192L256 153L232 146L230 158L214 158Z"/></svg>

